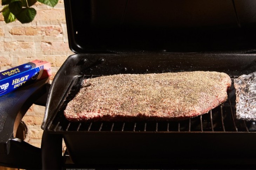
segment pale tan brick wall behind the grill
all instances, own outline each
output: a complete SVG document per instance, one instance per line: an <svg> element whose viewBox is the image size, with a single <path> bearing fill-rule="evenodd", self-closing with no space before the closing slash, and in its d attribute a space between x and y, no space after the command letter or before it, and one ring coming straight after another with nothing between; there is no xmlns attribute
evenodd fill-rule
<svg viewBox="0 0 256 170"><path fill-rule="evenodd" d="M63 0L54 8L40 3L34 8L36 17L27 24L19 21L6 24L0 14L0 71L35 59L45 60L51 63L52 80L66 58L73 54L68 47ZM45 107L32 106L23 117L28 127L25 141L36 147L41 145L44 111Z"/></svg>

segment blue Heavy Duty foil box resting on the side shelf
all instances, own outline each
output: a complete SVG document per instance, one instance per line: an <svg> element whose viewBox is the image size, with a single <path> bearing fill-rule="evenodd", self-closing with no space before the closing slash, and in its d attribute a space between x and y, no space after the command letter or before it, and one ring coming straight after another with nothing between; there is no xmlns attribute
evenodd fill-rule
<svg viewBox="0 0 256 170"><path fill-rule="evenodd" d="M0 72L0 96L51 76L50 63L34 60Z"/></svg>

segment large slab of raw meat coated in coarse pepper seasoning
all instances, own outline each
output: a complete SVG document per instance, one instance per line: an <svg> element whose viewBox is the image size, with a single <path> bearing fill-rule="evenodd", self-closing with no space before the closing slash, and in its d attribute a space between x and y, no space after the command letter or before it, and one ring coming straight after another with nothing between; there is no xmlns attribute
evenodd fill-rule
<svg viewBox="0 0 256 170"><path fill-rule="evenodd" d="M86 79L64 111L69 121L169 121L208 113L227 100L218 72L118 74Z"/></svg>

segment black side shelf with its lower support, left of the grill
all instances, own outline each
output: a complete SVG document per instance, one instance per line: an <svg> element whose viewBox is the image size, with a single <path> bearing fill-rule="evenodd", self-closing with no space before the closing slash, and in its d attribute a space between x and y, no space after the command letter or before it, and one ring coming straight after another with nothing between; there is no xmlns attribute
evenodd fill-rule
<svg viewBox="0 0 256 170"><path fill-rule="evenodd" d="M18 138L15 133L33 103L45 106L50 84L43 79L0 97L0 165L41 169L41 149Z"/></svg>

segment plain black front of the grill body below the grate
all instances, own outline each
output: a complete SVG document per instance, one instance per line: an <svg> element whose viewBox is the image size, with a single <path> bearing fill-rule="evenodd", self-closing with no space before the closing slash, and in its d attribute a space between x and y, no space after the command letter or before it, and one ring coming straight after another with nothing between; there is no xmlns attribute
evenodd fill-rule
<svg viewBox="0 0 256 170"><path fill-rule="evenodd" d="M239 137L238 137L239 136ZM249 168L255 162L255 134L202 132L92 132L64 135L68 153L76 164L94 167ZM246 146L238 148L238 143Z"/></svg>

